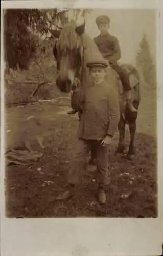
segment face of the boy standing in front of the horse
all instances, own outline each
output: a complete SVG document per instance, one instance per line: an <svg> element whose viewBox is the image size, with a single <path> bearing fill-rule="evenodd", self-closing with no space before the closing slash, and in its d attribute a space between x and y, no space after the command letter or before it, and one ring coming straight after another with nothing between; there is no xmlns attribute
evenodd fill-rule
<svg viewBox="0 0 163 256"><path fill-rule="evenodd" d="M105 76L105 68L101 66L94 66L90 68L90 76L92 81L98 83L104 79Z"/></svg>

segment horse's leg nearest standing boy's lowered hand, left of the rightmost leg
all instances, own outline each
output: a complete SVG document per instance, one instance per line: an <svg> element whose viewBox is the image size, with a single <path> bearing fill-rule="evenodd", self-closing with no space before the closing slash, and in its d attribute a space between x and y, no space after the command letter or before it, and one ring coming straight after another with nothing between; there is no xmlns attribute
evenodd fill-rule
<svg viewBox="0 0 163 256"><path fill-rule="evenodd" d="M125 125L126 121L124 120L122 114L120 115L120 121L118 124L118 130L119 130L119 143L118 148L116 150L116 153L123 153L125 149Z"/></svg>

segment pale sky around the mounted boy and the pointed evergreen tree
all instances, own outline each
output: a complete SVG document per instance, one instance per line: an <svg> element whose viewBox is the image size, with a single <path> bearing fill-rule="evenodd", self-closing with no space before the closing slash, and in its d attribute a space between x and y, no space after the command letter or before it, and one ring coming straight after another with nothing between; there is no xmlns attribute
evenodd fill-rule
<svg viewBox="0 0 163 256"><path fill-rule="evenodd" d="M94 9L87 15L85 32L91 38L99 34L95 19L99 15L110 17L109 33L119 39L122 51L120 62L135 64L143 33L146 34L153 61L156 54L156 13L150 9Z"/></svg>

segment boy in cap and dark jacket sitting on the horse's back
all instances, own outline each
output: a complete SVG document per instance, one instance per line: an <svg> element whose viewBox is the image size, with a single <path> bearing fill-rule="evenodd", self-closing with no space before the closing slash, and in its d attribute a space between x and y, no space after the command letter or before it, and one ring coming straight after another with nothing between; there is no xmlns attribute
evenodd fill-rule
<svg viewBox="0 0 163 256"><path fill-rule="evenodd" d="M128 73L118 65L117 61L121 58L121 49L119 41L115 36L108 33L110 27L110 18L107 15L101 15L96 18L96 24L100 30L100 35L94 38L99 51L104 59L108 60L111 67L118 73L123 89L126 95L126 103L130 111L137 112L131 102L131 88Z"/></svg>

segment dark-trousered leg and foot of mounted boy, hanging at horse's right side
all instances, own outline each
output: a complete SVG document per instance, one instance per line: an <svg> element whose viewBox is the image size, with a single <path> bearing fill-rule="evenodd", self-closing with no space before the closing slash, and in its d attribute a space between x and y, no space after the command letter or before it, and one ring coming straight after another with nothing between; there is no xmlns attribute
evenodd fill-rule
<svg viewBox="0 0 163 256"><path fill-rule="evenodd" d="M125 96L126 96L126 103L130 111L132 112L137 112L137 110L134 108L132 102L131 102L131 87L130 87L130 81L129 81L129 75L128 73L121 68L118 64L113 64L111 67L118 73L121 81L122 81L122 86L125 91Z"/></svg>

